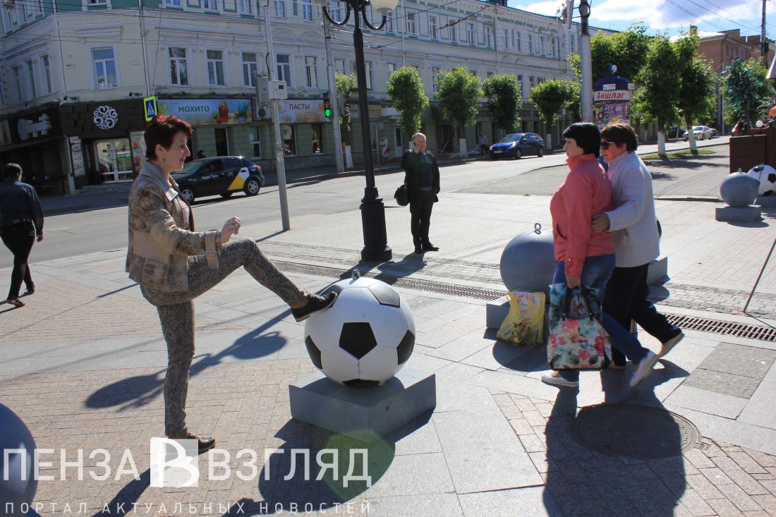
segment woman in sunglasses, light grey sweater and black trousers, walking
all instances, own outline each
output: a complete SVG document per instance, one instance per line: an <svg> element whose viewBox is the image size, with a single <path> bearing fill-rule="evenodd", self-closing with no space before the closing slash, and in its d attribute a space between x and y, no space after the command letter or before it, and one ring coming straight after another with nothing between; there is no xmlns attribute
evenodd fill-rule
<svg viewBox="0 0 776 517"><path fill-rule="evenodd" d="M601 130L601 154L609 165L608 176L615 210L593 217L593 231L610 231L615 241L616 267L606 285L604 311L624 328L636 321L663 344L659 357L684 338L648 300L646 283L650 262L660 255L652 176L636 154L636 133L628 124L614 122ZM612 349L615 367L625 366L622 352Z"/></svg>

